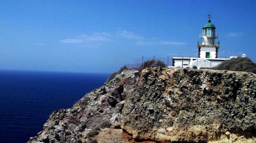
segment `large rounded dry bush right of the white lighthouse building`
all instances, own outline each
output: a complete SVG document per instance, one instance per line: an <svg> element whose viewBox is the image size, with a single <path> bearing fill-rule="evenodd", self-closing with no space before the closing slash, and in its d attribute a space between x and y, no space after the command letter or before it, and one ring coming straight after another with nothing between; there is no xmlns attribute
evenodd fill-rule
<svg viewBox="0 0 256 143"><path fill-rule="evenodd" d="M229 71L245 71L256 74L256 64L248 57L237 57L225 60L212 69L229 70Z"/></svg>

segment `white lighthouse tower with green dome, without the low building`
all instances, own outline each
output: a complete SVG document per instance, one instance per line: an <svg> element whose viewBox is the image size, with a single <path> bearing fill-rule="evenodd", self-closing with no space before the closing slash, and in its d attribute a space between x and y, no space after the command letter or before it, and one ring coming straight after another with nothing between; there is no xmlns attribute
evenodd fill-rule
<svg viewBox="0 0 256 143"><path fill-rule="evenodd" d="M205 59L218 58L219 40L218 34L215 32L216 27L211 23L211 15L208 15L208 23L203 26L202 33L199 37L202 39L197 41L198 57Z"/></svg>

